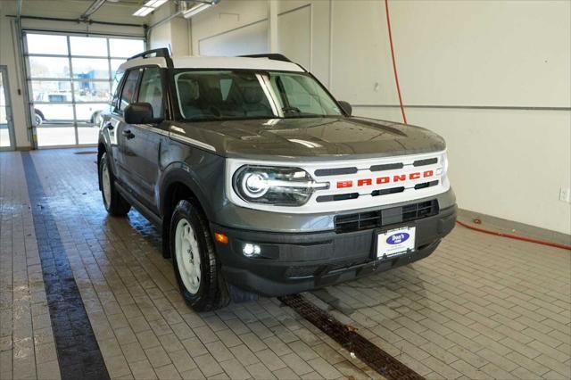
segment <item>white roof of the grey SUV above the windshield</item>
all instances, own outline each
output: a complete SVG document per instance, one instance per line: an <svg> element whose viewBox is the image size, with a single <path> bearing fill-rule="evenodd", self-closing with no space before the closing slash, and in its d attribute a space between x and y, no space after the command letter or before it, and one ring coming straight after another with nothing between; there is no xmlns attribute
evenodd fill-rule
<svg viewBox="0 0 571 380"><path fill-rule="evenodd" d="M174 56L171 57L171 59L175 69L303 71L302 67L297 63L270 60L269 58ZM136 58L121 64L119 70L123 71L141 65L158 65L160 67L167 67L167 62L163 57Z"/></svg>

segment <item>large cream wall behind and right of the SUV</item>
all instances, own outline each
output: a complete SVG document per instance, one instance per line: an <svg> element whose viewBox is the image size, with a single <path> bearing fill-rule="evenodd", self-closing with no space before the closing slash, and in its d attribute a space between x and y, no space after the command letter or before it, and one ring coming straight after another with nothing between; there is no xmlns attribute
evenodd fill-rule
<svg viewBox="0 0 571 380"><path fill-rule="evenodd" d="M389 4L404 102L443 107L409 107L409 122L446 138L459 206L571 233L559 202L571 186L571 3ZM280 52L354 114L401 121L383 1L288 0L278 12ZM267 18L267 2L222 0L193 18L193 53Z"/></svg>

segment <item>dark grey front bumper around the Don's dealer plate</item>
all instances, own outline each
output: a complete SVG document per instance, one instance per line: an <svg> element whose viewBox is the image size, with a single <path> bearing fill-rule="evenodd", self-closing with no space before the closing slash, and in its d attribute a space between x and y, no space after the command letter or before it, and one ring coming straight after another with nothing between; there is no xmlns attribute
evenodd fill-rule
<svg viewBox="0 0 571 380"><path fill-rule="evenodd" d="M228 284L266 296L300 293L420 260L434 252L456 222L457 207L401 224L348 232L273 233L221 227L211 230L228 235L228 244L216 243L222 273ZM415 251L377 260L377 233L400 226L416 227ZM244 243L259 244L260 258L242 253Z"/></svg>

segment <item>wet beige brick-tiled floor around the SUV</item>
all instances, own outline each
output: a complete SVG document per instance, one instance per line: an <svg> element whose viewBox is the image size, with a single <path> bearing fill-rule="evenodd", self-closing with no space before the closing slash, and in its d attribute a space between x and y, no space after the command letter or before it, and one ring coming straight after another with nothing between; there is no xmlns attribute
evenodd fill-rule
<svg viewBox="0 0 571 380"><path fill-rule="evenodd" d="M155 228L135 211L107 216L95 154L78 151L29 153L39 204L21 153L0 153L0 378L60 374L43 207L113 378L380 377L276 299L189 310ZM427 378L569 378L570 277L569 252L457 227L426 260L306 296Z"/></svg>

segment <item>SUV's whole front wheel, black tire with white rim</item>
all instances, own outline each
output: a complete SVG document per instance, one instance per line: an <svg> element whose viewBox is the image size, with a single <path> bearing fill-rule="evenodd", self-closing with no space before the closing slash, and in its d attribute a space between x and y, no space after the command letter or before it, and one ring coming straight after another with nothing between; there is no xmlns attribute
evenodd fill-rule
<svg viewBox="0 0 571 380"><path fill-rule="evenodd" d="M170 252L180 293L196 311L228 304L206 218L194 205L180 201L170 219Z"/></svg>

